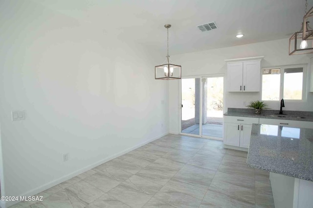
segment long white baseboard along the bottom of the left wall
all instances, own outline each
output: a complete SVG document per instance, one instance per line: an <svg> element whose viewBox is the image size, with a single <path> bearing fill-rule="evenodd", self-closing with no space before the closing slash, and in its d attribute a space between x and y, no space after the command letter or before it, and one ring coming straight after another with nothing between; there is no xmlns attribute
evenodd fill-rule
<svg viewBox="0 0 313 208"><path fill-rule="evenodd" d="M91 164L89 166L86 166L85 168L82 168L80 170L76 170L76 171L74 171L74 172L72 172L70 174L67 174L67 175L65 175L65 176L63 176L61 178L58 178L58 179L56 179L54 181L46 183L43 186L37 187L35 189L31 189L31 190L21 194L21 196L33 196L35 194L38 194L38 193L40 193L40 192L42 192L42 191L44 191L46 189L49 189L49 188L54 187L54 186L56 186L56 185L58 185L58 184L60 184L60 183L62 183L64 181L67 181L68 179L71 179L72 177L75 177L75 176L77 176L77 175L79 175L79 174L81 174L83 172L86 172L87 170L93 169L93 168L95 168L95 167L97 167L97 166L99 166L99 165L101 165L103 163L106 163L106 162L108 162L108 161L110 161L110 160L112 160L112 159L114 159L116 157L119 157L119 156L121 156L123 154L126 154L126 153L128 153L130 151L133 151L133 150L135 150L135 149L137 149L137 148L139 148L139 147L141 147L143 145L146 145L146 144L148 144L148 143L150 143L150 142L152 142L152 141L154 141L156 139L159 139L162 136L167 135L168 133L169 132L162 133L162 134L160 134L160 135L158 135L158 136L156 136L156 137L154 137L152 139L146 140L146 141L144 141L144 142L142 142L142 143L140 143L138 145L135 145L134 147L128 148L128 149L126 149L124 151L120 151L120 152L118 152L116 154L113 154L112 156L109 156L109 157L103 159L103 160L100 160L100 161L95 162L95 163L93 163L93 164ZM14 204L19 203L19 202L20 201L0 201L0 208L8 208L8 207L10 207L10 206L12 206Z"/></svg>

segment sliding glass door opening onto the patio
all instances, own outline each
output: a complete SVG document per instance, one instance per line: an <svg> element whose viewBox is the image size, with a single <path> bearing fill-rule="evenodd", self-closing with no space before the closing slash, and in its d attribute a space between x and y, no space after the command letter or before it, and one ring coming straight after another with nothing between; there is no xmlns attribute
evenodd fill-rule
<svg viewBox="0 0 313 208"><path fill-rule="evenodd" d="M223 138L224 77L181 79L181 133Z"/></svg>

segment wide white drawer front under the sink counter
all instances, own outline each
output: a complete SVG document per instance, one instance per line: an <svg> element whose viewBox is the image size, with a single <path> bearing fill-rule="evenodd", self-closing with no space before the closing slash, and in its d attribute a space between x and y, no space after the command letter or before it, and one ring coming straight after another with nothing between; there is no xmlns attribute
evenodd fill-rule
<svg viewBox="0 0 313 208"><path fill-rule="evenodd" d="M310 122L310 121L295 121L295 120L260 118L259 123L260 124L277 125L277 126L290 126L290 127L297 127L297 128L313 129L313 122Z"/></svg>

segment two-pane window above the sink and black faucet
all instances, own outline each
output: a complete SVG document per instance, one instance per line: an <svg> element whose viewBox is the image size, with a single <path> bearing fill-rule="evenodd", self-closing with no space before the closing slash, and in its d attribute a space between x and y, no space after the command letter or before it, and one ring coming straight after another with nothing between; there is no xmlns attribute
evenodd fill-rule
<svg viewBox="0 0 313 208"><path fill-rule="evenodd" d="M303 99L304 66L263 69L262 100Z"/></svg>

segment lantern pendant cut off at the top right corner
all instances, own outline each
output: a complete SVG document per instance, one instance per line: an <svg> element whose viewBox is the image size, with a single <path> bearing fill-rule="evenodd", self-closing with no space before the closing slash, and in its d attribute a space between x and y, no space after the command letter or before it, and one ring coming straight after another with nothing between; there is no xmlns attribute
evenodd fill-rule
<svg viewBox="0 0 313 208"><path fill-rule="evenodd" d="M308 0L305 3L305 15L301 23L301 30L295 32L289 38L289 55L312 54L313 53L313 30L310 28L308 20L313 16L313 7L307 12Z"/></svg>

